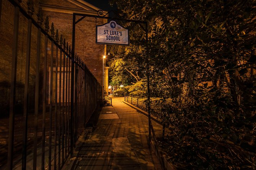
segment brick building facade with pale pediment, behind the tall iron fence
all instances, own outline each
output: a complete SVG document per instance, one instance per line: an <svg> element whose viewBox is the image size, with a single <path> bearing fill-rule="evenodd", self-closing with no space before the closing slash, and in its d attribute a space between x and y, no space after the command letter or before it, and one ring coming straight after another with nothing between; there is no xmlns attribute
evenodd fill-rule
<svg viewBox="0 0 256 170"><path fill-rule="evenodd" d="M22 0L20 5L24 10L28 10L28 0ZM55 31L58 29L59 35L62 34L68 45L72 45L72 18L73 13L83 13L97 15L99 8L83 0L33 0L34 14L33 18L37 21L36 14L39 6L43 10L43 18L49 17L49 27L54 23ZM106 11L103 11L106 14ZM13 38L13 18L14 6L8 1L2 1L1 21L0 21L0 109L3 114L8 114L10 99L10 80L11 80L11 56L12 56L12 38ZM77 19L81 17L77 16ZM98 100L102 99L103 85L103 53L104 45L95 43L96 25L102 25L106 21L86 17L76 25L75 34L75 52L84 61L88 69L99 82ZM42 26L44 27L44 26ZM26 69L26 48L27 48L27 30L28 19L22 14L19 19L19 37L18 37L18 59L17 59L17 77L16 77L16 105L17 111L22 112L19 107L23 106L24 100L24 81ZM49 32L49 34L51 34ZM32 26L31 34L31 59L29 74L29 106L34 107L35 90L35 72L36 72L36 45L37 45L37 28ZM43 47L44 38L41 40ZM72 47L71 47L72 48ZM44 50L43 48L41 49ZM50 51L49 51L50 53ZM106 53L106 52L105 52ZM106 55L106 54L105 54ZM50 56L50 55L48 55ZM43 56L41 57L43 63ZM48 60L49 61L49 60ZM49 64L49 63L47 63ZM40 68L41 70L43 68ZM42 73L41 73L42 75ZM49 74L47 75L49 81ZM42 87L40 87L42 88ZM48 94L49 95L49 94Z"/></svg>

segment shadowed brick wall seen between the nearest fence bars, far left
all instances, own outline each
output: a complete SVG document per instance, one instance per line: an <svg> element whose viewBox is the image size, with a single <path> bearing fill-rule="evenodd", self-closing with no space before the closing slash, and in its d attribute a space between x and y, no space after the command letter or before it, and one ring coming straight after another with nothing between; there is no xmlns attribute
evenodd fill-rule
<svg viewBox="0 0 256 170"><path fill-rule="evenodd" d="M21 3L22 7L26 4ZM3 114L8 114L10 85L11 85L11 62L12 62L12 47L13 47L13 22L14 22L14 7L8 0L3 0L1 26L0 26L0 109ZM22 14L19 18L19 37L18 37L18 56L17 56L17 75L16 75L16 105L23 106L24 100L24 82L26 70L26 48L27 48L27 29L28 19ZM29 108L34 107L34 89L35 89L35 69L36 69L36 44L37 44L37 29L32 27L31 34L31 59L30 59L30 74L29 74ZM22 110L16 111L18 113Z"/></svg>

